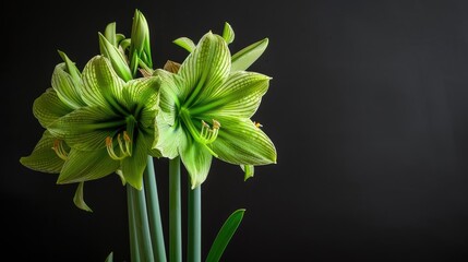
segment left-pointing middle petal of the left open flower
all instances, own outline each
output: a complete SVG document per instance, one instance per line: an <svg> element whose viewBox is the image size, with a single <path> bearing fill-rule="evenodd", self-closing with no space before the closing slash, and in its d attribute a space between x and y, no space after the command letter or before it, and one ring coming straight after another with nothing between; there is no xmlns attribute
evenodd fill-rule
<svg viewBox="0 0 468 262"><path fill-rule="evenodd" d="M106 147L106 138L113 136L125 120L101 107L82 107L58 119L48 130L71 147L94 151Z"/></svg>

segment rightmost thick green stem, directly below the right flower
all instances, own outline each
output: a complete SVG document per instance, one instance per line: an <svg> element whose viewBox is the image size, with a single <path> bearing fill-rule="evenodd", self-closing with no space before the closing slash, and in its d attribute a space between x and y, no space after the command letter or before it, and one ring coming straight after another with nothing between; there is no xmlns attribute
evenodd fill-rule
<svg viewBox="0 0 468 262"><path fill-rule="evenodd" d="M191 189L189 184L189 225L187 261L202 261L202 186Z"/></svg>

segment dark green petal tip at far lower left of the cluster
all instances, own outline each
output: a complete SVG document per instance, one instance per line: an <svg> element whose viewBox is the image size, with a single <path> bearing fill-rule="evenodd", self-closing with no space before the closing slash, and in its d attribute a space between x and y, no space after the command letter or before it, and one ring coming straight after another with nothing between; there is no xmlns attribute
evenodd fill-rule
<svg viewBox="0 0 468 262"><path fill-rule="evenodd" d="M49 131L45 131L43 138L34 147L29 156L21 157L20 163L24 166L43 172L58 174L62 169L64 160L57 156L52 150L56 138ZM64 145L65 150L70 150Z"/></svg>

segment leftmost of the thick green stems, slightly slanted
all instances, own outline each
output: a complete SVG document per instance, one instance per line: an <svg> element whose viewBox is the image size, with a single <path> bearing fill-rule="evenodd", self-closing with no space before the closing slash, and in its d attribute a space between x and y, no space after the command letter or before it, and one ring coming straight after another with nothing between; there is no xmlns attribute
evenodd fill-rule
<svg viewBox="0 0 468 262"><path fill-rule="evenodd" d="M146 212L145 190L137 190L131 187L130 193L133 194L133 205L135 207L134 214L139 236L137 243L140 249L140 258L145 262L154 262L153 247L149 236L148 215Z"/></svg>

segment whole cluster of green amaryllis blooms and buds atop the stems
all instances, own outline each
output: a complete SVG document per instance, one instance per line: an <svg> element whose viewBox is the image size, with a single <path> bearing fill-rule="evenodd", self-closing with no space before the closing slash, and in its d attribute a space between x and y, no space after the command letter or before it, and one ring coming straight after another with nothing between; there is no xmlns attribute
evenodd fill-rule
<svg viewBox="0 0 468 262"><path fill-rule="evenodd" d="M271 78L245 71L267 39L231 56L233 38L227 23L197 45L179 38L187 59L153 69L147 22L136 11L131 37L109 24L99 33L100 55L83 71L59 51L52 87L33 106L45 132L21 163L60 174L58 183L80 182L80 194L83 182L110 174L141 189L148 155L180 156L192 188L206 179L213 157L240 165L245 178L253 166L276 163L274 144L251 120Z"/></svg>

